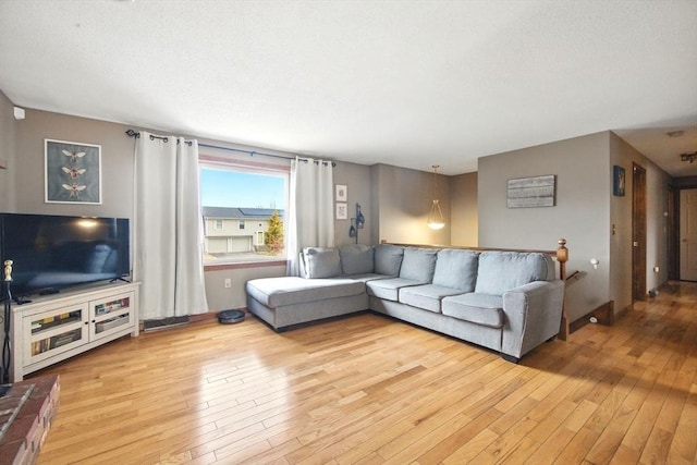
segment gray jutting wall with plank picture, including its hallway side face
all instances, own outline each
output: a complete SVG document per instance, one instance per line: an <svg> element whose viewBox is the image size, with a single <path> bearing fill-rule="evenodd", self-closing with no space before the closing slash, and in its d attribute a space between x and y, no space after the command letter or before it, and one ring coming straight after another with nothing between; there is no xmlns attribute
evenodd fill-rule
<svg viewBox="0 0 697 465"><path fill-rule="evenodd" d="M668 189L671 178L611 132L479 159L479 245L570 248L567 309L571 320L614 301L632 305L632 162L647 170L647 291L668 281ZM612 195L612 166L626 170L626 195ZM557 174L557 206L506 207L509 179ZM614 233L613 233L614 231ZM590 259L600 265L594 269ZM653 272L659 266L660 271Z"/></svg>

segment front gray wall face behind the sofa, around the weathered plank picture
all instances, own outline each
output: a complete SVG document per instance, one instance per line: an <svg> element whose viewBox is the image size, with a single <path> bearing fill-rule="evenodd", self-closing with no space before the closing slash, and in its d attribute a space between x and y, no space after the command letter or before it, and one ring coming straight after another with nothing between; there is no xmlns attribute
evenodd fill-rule
<svg viewBox="0 0 697 465"><path fill-rule="evenodd" d="M568 273L582 272L567 285L572 321L610 301L609 152L599 133L479 159L479 245L554 249L566 238ZM557 175L557 206L506 207L508 180L545 174Z"/></svg>

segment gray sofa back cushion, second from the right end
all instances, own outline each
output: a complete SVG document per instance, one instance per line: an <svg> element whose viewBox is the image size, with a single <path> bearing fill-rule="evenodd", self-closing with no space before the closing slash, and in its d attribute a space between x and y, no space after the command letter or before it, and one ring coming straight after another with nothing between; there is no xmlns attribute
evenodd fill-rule
<svg viewBox="0 0 697 465"><path fill-rule="evenodd" d="M477 283L479 254L472 250L442 249L438 253L433 284L473 292Z"/></svg>

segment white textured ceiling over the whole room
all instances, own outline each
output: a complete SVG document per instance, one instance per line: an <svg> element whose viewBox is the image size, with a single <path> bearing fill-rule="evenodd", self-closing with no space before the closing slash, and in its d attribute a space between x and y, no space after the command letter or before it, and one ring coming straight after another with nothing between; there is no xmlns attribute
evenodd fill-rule
<svg viewBox="0 0 697 465"><path fill-rule="evenodd" d="M0 0L0 90L24 108L444 174L610 130L697 175L680 161L697 150L696 23L696 0Z"/></svg>

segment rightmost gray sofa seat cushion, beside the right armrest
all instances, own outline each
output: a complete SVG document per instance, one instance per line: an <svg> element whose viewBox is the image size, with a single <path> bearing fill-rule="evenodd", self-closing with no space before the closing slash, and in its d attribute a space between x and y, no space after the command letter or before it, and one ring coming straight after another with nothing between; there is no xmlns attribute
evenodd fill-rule
<svg viewBox="0 0 697 465"><path fill-rule="evenodd" d="M468 293L443 297L441 311L449 317L490 328L503 326L503 297L500 295Z"/></svg>

